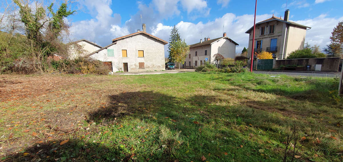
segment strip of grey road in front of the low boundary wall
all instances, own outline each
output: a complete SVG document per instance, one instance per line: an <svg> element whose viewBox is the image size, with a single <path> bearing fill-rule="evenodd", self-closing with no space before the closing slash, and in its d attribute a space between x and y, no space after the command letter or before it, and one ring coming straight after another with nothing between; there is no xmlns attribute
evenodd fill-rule
<svg viewBox="0 0 343 162"><path fill-rule="evenodd" d="M268 75L288 75L288 76L305 76L305 77L336 77L339 76L339 72L286 72L286 71L257 71L254 70L254 73L257 74L268 74Z"/></svg>

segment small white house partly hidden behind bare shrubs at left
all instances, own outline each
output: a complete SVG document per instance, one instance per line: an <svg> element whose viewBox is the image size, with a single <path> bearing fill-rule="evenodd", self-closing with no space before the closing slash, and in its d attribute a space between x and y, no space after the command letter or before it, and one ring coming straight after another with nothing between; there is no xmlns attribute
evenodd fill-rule
<svg viewBox="0 0 343 162"><path fill-rule="evenodd" d="M78 57L84 57L88 54L103 48L95 42L88 41L86 39L80 39L69 43L69 59L75 59Z"/></svg>

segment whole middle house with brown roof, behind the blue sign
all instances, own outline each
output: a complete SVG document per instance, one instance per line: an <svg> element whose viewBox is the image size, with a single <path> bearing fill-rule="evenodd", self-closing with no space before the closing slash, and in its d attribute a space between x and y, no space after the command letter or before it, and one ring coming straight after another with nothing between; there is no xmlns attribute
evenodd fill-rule
<svg viewBox="0 0 343 162"><path fill-rule="evenodd" d="M214 55L219 53L225 58L235 58L238 44L223 33L223 37L200 39L199 43L190 45L184 66L198 67L205 62L214 63Z"/></svg>

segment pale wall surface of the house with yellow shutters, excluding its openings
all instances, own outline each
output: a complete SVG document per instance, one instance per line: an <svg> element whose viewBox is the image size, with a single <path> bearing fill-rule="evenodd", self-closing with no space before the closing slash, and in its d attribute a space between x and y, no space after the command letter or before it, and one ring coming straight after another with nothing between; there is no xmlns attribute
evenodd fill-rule
<svg viewBox="0 0 343 162"><path fill-rule="evenodd" d="M123 63L128 63L129 72L164 70L164 45L147 35L139 34L117 41L108 47L114 50L114 56L107 56L107 49L91 55L102 62L112 62L113 71L124 71ZM122 57L121 50L127 50L127 57ZM138 51L144 51L144 57L138 57ZM144 62L144 69L139 63Z"/></svg>

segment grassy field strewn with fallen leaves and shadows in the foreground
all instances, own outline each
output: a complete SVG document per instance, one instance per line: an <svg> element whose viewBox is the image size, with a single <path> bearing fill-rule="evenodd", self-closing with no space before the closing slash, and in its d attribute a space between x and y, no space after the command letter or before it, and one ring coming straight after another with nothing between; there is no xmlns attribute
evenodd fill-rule
<svg viewBox="0 0 343 162"><path fill-rule="evenodd" d="M334 78L191 72L0 75L5 161L343 160ZM289 156L291 156L289 153Z"/></svg>

